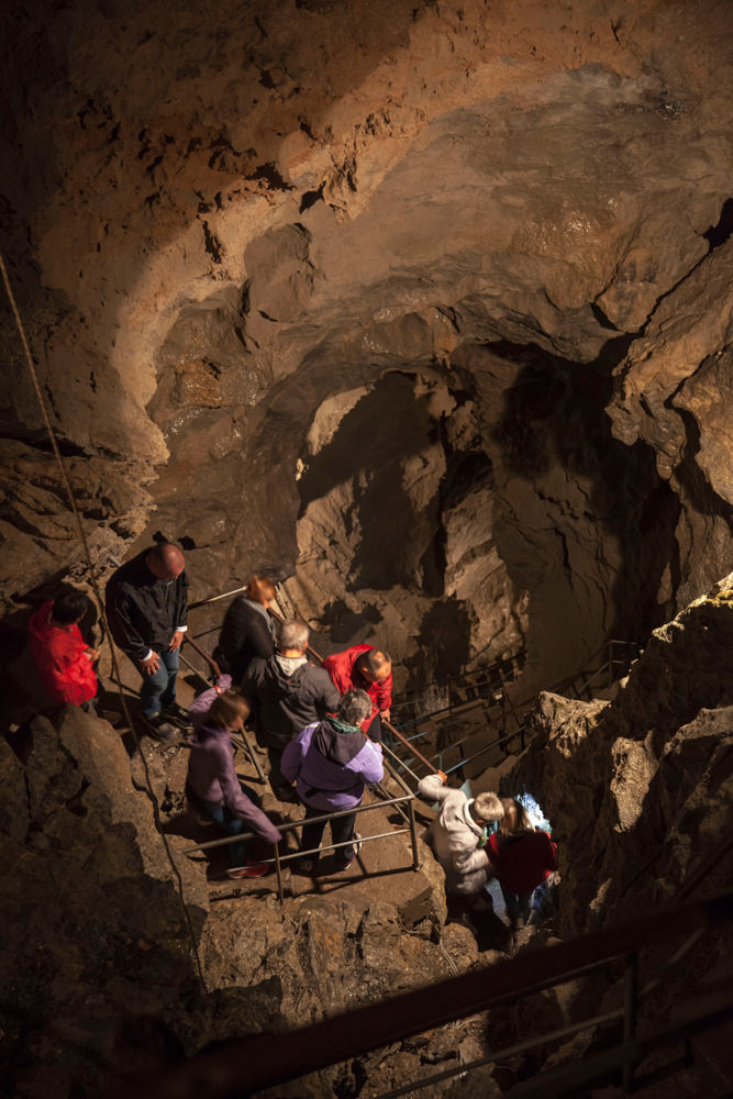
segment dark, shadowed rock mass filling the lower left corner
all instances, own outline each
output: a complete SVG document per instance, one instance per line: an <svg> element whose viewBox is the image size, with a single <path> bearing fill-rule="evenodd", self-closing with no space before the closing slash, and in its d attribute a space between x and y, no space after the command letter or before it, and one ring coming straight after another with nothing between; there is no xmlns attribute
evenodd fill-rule
<svg viewBox="0 0 733 1099"><path fill-rule="evenodd" d="M99 1095L204 1018L178 876L195 935L208 890L175 841L174 876L107 722L74 710L1 743L2 1087Z"/></svg>

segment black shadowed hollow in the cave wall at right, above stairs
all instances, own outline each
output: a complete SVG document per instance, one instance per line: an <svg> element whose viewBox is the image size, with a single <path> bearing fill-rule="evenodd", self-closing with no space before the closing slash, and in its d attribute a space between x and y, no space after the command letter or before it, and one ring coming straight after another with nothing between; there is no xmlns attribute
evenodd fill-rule
<svg viewBox="0 0 733 1099"><path fill-rule="evenodd" d="M621 554L609 593L607 636L642 642L674 613L671 602L657 603L657 592L667 567L673 591L679 584L675 528L680 504L657 473L654 451L641 441L626 446L611 434L606 413L613 389L611 369L630 338L612 337L587 365L532 345L492 345L492 352L522 364L492 434L510 474L532 482L540 496L543 475L556 464L588 480L586 518L618 539Z"/></svg>

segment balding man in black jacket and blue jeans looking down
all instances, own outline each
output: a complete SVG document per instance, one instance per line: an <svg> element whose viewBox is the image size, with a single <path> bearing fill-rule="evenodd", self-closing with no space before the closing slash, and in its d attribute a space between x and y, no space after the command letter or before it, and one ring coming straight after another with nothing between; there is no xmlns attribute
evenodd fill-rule
<svg viewBox="0 0 733 1099"><path fill-rule="evenodd" d="M169 722L189 723L176 702L178 650L188 629L185 565L182 551L164 542L121 565L107 584L110 632L143 674L141 712L158 740L175 735Z"/></svg>

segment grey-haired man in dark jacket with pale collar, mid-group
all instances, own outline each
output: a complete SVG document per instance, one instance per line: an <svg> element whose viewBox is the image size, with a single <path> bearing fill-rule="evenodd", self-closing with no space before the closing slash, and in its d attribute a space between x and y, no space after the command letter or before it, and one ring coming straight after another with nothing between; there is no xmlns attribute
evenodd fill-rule
<svg viewBox="0 0 733 1099"><path fill-rule="evenodd" d="M257 741L267 748L269 781L280 801L292 800L292 787L280 770L286 747L301 729L333 713L341 696L323 668L308 663L309 630L286 619L277 631L275 656L253 660L242 693L255 713Z"/></svg>

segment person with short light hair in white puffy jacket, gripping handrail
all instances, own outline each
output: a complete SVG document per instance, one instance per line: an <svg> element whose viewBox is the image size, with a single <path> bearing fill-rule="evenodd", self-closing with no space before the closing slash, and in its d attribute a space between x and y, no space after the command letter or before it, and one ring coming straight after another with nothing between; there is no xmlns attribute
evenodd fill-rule
<svg viewBox="0 0 733 1099"><path fill-rule="evenodd" d="M501 820L504 809L496 793L467 798L447 786L443 771L420 780L420 793L440 806L430 828L430 843L445 870L446 892L469 903L484 896L484 886L493 877L486 825Z"/></svg>

